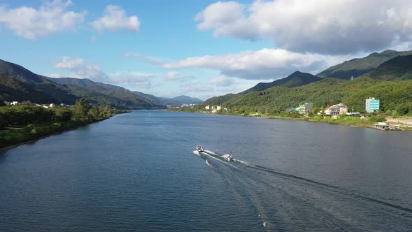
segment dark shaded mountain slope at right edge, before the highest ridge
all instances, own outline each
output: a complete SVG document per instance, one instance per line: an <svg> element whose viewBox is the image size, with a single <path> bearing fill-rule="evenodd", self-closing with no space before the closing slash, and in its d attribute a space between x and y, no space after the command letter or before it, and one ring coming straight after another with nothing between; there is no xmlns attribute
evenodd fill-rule
<svg viewBox="0 0 412 232"><path fill-rule="evenodd" d="M385 61L367 74L381 80L412 80L412 55L399 56Z"/></svg>

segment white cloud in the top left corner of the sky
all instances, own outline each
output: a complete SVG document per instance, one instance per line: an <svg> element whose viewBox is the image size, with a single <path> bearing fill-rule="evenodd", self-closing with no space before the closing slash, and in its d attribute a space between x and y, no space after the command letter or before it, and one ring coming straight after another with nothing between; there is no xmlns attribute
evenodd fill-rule
<svg viewBox="0 0 412 232"><path fill-rule="evenodd" d="M38 9L0 6L0 24L6 24L17 36L34 40L58 31L75 30L86 12L68 11L71 1L46 1Z"/></svg>

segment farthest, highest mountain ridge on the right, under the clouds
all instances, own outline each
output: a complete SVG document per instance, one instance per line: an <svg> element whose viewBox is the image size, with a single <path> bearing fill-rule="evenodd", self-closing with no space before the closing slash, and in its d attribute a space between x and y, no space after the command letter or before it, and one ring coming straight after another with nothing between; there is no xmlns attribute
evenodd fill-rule
<svg viewBox="0 0 412 232"><path fill-rule="evenodd" d="M371 55L363 58L351 59L350 61L344 61L341 64L332 66L321 73L316 74L320 78L338 78L350 80L373 71L383 62L388 61L394 57L412 55L412 51L397 52L394 50L385 50L383 52L374 52Z"/></svg>

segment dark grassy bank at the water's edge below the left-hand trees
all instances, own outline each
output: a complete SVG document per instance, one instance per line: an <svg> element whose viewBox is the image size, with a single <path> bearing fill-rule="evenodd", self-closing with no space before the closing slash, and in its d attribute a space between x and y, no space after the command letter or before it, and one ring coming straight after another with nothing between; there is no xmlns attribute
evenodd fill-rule
<svg viewBox="0 0 412 232"><path fill-rule="evenodd" d="M130 111L119 111L119 113L130 113ZM113 115L114 116L114 115ZM112 117L112 116L111 116ZM40 124L29 124L19 129L10 129L0 134L0 151L8 150L25 143L31 143L41 138L54 136L64 133L80 126L86 126L95 122L101 122L110 117L95 119L93 121L68 121L68 122L49 122Z"/></svg>

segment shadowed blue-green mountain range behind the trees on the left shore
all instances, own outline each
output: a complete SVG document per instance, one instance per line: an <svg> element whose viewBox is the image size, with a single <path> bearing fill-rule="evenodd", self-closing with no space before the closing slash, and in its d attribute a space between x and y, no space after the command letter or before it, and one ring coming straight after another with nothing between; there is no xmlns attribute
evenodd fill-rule
<svg viewBox="0 0 412 232"><path fill-rule="evenodd" d="M165 108L160 102L146 99L115 85L76 78L47 78L20 65L0 59L0 98L5 101L74 104L79 98L115 108Z"/></svg>

